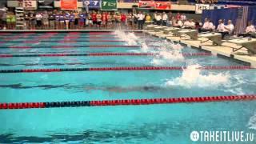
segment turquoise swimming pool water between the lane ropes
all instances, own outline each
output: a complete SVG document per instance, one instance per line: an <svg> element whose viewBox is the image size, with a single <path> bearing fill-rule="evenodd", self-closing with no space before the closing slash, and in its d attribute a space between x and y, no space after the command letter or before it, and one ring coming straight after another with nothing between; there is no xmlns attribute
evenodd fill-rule
<svg viewBox="0 0 256 144"><path fill-rule="evenodd" d="M1 35L0 38L9 38ZM22 34L20 34L22 35ZM42 34L29 34L28 41ZM8 46L127 45L126 42L59 43L67 33L54 34L53 42L36 44L2 42L1 54L79 54L145 52L138 47L30 48ZM75 34L74 34L75 35ZM108 37L108 34L78 34L77 39ZM54 38L61 37L61 38ZM86 38L88 37L88 38ZM74 39L74 40L77 40ZM101 40L102 38L97 38ZM120 38L109 38L121 40ZM106 38L104 38L106 40ZM146 42L152 40L155 42ZM0 40L0 42L3 40ZM178 45L163 39L138 36L146 42L146 52L177 51ZM154 46L156 47L154 47ZM7 48L5 48L5 46ZM202 53L189 47L182 53ZM193 66L242 66L217 56L178 58L180 55L112 57L28 57L1 58L0 70L118 67L192 66L190 70L72 71L58 73L0 74L0 102L65 102L133 98L178 98L256 94L256 70L202 70ZM148 106L92 106L26 110L0 110L0 142L69 143L191 143L194 130L244 130L255 133L256 102L209 102Z"/></svg>

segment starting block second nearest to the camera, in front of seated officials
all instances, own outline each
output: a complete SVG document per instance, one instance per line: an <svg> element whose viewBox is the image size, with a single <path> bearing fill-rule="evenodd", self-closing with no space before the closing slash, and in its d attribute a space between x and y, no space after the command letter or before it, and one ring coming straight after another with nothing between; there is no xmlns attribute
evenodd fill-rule
<svg viewBox="0 0 256 144"><path fill-rule="evenodd" d="M201 41L201 43L205 43L208 41L214 42L215 45L222 45L222 34L220 33L205 33L205 34L198 34L198 37L208 38L206 41Z"/></svg>

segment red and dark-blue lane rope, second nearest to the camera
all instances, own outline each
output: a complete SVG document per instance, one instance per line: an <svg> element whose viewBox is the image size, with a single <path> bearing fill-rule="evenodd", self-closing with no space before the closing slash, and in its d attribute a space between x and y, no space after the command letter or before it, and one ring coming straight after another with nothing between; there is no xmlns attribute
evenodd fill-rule
<svg viewBox="0 0 256 144"><path fill-rule="evenodd" d="M93 68L62 68L62 69L23 69L0 70L0 73L38 73L62 71L121 71L121 70L185 70L182 66L140 66L140 67L93 67ZM200 70L249 70L250 66L202 66Z"/></svg>

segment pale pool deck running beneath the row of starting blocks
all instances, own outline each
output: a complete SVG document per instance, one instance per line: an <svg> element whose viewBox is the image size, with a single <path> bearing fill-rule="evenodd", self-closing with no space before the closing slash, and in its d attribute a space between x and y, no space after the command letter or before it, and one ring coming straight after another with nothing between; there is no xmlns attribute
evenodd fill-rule
<svg viewBox="0 0 256 144"><path fill-rule="evenodd" d="M162 32L152 32L149 30L144 30L144 32L158 38L166 38L173 42L180 42L182 45L197 48L200 50L206 50L214 55L221 55L227 58L250 63L250 66L256 68L256 54L248 54L246 49L244 48L233 52L232 48L238 48L239 46L231 42L223 42L221 46L215 46L212 42L202 42L206 41L206 38L191 40L190 38L175 37L172 36L172 34L167 35L163 34Z"/></svg>

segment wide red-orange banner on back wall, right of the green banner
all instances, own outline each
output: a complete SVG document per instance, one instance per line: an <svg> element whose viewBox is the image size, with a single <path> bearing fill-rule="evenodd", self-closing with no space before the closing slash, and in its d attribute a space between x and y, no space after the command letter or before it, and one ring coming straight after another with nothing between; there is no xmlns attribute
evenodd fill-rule
<svg viewBox="0 0 256 144"><path fill-rule="evenodd" d="M171 2L139 1L140 8L170 10Z"/></svg>

